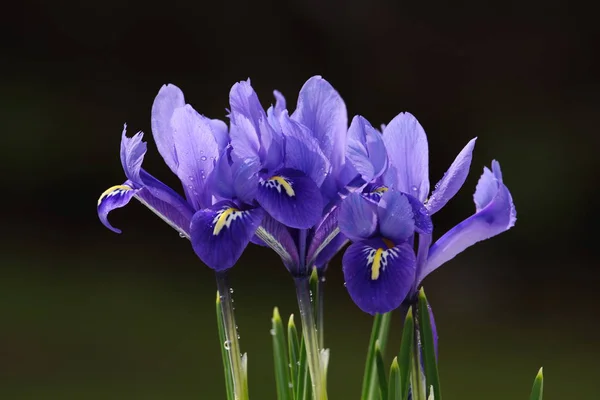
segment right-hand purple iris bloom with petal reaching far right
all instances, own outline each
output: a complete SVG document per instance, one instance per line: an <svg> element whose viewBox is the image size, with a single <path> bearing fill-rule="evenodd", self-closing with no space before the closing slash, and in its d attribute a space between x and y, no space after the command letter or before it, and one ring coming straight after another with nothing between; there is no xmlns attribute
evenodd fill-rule
<svg viewBox="0 0 600 400"><path fill-rule="evenodd" d="M429 195L425 131L409 113L396 116L380 133L354 118L346 157L369 181L362 193L342 203L339 226L353 241L343 257L346 287L365 312L385 313L416 293L432 271L473 244L511 228L516 210L502 181L500 165L484 169L474 199L475 214L433 246L430 216L461 188L471 164L475 139L456 157ZM418 251L414 241L418 236Z"/></svg>

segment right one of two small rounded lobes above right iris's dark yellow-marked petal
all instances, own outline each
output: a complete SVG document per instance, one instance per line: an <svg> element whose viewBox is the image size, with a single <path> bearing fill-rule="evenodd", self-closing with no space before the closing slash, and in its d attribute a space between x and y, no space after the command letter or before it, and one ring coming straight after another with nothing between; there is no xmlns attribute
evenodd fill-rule
<svg viewBox="0 0 600 400"><path fill-rule="evenodd" d="M414 214L404 193L385 192L377 205L377 216L381 235L394 243L402 243L414 234Z"/></svg>

